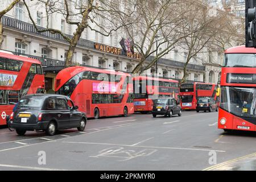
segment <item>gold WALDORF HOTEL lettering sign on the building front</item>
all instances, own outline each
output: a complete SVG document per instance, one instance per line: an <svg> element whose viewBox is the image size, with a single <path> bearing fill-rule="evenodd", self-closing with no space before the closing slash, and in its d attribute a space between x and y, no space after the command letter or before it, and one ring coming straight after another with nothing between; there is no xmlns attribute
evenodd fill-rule
<svg viewBox="0 0 256 182"><path fill-rule="evenodd" d="M141 54L136 53L136 52L126 52L124 53L122 49L119 49L117 47L112 47L112 46L106 46L104 44L99 44L99 43L94 43L94 48L97 49L98 51L101 52L106 52L106 53L113 53L114 55L125 55L129 58L133 59L141 59Z"/></svg>

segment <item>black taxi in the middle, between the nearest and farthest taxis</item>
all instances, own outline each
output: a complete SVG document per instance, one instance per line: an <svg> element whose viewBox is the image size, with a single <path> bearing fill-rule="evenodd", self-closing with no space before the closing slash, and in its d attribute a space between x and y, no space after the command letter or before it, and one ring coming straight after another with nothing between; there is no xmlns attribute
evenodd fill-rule
<svg viewBox="0 0 256 182"><path fill-rule="evenodd" d="M175 98L158 98L153 100L152 115L155 118L156 115L164 115L172 117L177 114L181 116L181 106Z"/></svg>

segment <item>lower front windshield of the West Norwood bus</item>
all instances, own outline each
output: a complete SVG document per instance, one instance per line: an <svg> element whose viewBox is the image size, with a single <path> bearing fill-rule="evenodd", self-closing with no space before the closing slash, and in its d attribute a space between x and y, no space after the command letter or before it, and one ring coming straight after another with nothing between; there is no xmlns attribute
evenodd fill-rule
<svg viewBox="0 0 256 182"><path fill-rule="evenodd" d="M254 118L256 89L221 86L220 107L238 117Z"/></svg>

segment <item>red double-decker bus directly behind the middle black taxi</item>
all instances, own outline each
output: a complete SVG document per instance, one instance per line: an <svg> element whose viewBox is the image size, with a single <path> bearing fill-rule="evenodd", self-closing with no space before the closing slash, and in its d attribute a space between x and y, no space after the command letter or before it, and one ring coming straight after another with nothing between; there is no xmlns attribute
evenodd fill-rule
<svg viewBox="0 0 256 182"><path fill-rule="evenodd" d="M155 97L173 97L178 99L179 81L149 76L133 77L134 111L147 113L152 110Z"/></svg>

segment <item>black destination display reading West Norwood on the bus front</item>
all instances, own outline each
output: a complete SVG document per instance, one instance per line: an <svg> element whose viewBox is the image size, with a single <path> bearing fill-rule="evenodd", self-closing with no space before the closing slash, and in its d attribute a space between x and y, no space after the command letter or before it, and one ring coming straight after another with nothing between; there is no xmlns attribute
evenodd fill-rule
<svg viewBox="0 0 256 182"><path fill-rule="evenodd" d="M228 73L226 76L226 82L240 84L256 84L256 74Z"/></svg>

